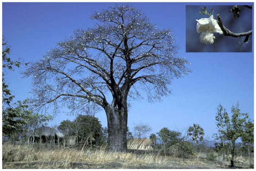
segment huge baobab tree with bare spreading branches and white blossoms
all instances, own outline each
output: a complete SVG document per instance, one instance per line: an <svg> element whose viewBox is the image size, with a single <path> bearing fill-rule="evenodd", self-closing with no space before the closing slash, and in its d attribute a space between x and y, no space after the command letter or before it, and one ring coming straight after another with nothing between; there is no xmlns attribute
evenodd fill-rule
<svg viewBox="0 0 256 171"><path fill-rule="evenodd" d="M178 57L169 29L160 30L130 5L95 12L94 28L78 29L24 72L33 75L35 107L67 105L73 112L96 103L106 112L109 147L127 149L127 99L147 92L149 102L171 93L188 61ZM109 96L108 96L109 95ZM61 103L59 103L61 102Z"/></svg>

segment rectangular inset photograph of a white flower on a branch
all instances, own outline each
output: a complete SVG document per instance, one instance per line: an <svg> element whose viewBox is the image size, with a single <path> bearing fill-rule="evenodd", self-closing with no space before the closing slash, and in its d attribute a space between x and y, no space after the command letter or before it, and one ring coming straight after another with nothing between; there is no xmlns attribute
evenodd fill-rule
<svg viewBox="0 0 256 171"><path fill-rule="evenodd" d="M186 5L186 52L252 52L252 5Z"/></svg>

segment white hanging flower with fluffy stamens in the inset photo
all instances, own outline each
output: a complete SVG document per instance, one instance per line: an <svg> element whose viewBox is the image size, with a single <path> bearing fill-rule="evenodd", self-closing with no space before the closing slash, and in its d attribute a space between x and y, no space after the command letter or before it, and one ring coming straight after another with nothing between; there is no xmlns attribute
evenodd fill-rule
<svg viewBox="0 0 256 171"><path fill-rule="evenodd" d="M200 33L199 40L201 43L213 44L215 39L213 33L223 33L217 20L213 18L213 15L209 18L202 18L196 21L196 32Z"/></svg>

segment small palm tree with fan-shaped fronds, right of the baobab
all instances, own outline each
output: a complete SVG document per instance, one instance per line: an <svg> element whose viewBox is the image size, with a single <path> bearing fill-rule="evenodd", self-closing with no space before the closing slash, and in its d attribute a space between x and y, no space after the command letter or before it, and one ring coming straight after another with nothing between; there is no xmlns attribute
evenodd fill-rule
<svg viewBox="0 0 256 171"><path fill-rule="evenodd" d="M203 140L204 137L204 130L202 127L199 126L199 124L193 124L193 127L190 126L188 128L188 135L191 136L191 140L194 141L195 146L196 144Z"/></svg>

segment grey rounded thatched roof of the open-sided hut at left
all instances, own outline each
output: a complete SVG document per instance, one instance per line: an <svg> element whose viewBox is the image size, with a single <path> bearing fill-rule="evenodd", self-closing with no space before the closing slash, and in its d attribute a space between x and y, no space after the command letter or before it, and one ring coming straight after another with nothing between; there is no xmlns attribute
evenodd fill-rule
<svg viewBox="0 0 256 171"><path fill-rule="evenodd" d="M51 127L39 127L37 129L34 129L34 133L33 133L33 130L29 130L27 133L26 133L27 136L33 136L35 135L35 137L40 137L41 136L46 136L46 137L49 137L49 136L57 136L59 138L64 138L64 135L55 130L54 128L51 128Z"/></svg>

